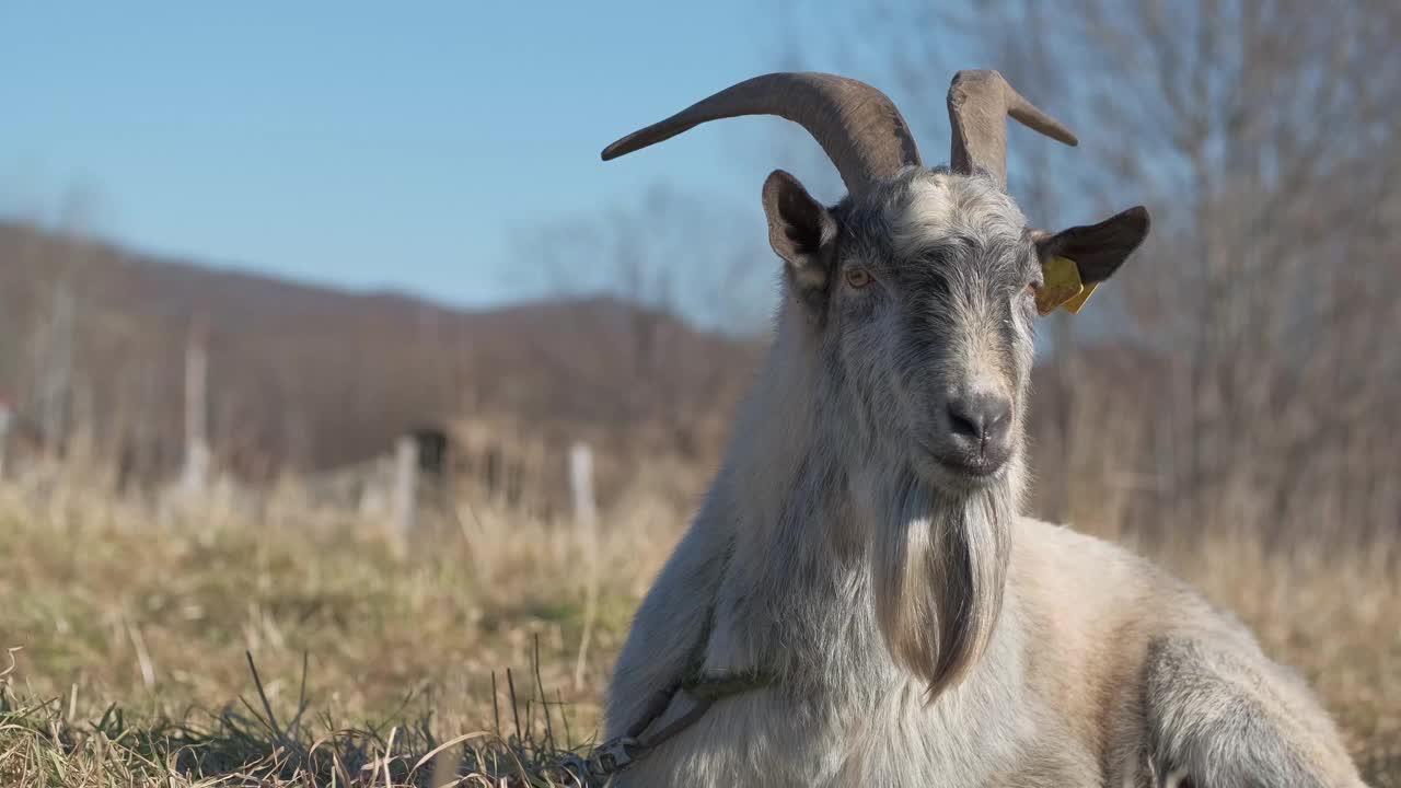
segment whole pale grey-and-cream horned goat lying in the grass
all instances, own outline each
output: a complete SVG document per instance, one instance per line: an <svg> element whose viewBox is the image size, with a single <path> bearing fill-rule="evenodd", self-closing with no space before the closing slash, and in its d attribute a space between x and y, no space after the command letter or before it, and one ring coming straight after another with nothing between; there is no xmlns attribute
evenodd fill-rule
<svg viewBox="0 0 1401 788"><path fill-rule="evenodd" d="M815 73L740 83L602 157L738 115L804 126L849 193L827 208L787 172L764 184L775 341L618 659L605 725L633 761L614 784L1362 785L1244 625L1020 515L1045 266L1108 279L1147 212L1028 227L1006 118L1076 137L996 72L954 77L948 167L923 167L884 94ZM766 679L675 691L698 676ZM667 733L642 747L649 721Z"/></svg>

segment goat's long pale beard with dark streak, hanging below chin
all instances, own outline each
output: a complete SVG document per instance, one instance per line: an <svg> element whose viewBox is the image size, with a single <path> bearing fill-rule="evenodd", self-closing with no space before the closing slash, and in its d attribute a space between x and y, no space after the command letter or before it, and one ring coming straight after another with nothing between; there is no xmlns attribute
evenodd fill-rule
<svg viewBox="0 0 1401 788"><path fill-rule="evenodd" d="M905 471L876 495L876 618L895 660L929 700L955 684L992 641L1002 613L1013 484L950 495Z"/></svg>

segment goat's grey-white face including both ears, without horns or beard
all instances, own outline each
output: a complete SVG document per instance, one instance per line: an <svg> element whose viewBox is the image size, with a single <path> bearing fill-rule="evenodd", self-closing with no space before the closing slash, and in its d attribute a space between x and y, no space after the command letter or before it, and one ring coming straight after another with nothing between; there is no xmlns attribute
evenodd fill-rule
<svg viewBox="0 0 1401 788"><path fill-rule="evenodd" d="M834 209L776 172L765 208L789 290L855 411L848 429L947 492L996 484L1020 458L1041 261L1094 262L1112 247L1100 280L1147 229L1125 212L1035 233L992 178L915 167Z"/></svg>

